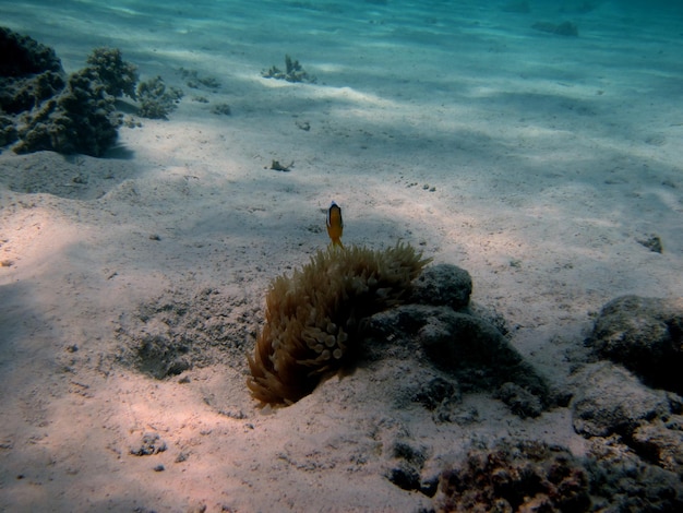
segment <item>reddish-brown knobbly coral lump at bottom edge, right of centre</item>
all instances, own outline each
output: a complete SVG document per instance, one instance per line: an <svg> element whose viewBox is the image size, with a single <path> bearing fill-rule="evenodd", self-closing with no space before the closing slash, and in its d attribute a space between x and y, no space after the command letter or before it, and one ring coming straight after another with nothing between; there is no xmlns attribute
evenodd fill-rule
<svg viewBox="0 0 683 513"><path fill-rule="evenodd" d="M585 467L566 449L501 442L441 475L438 511L589 511Z"/></svg>

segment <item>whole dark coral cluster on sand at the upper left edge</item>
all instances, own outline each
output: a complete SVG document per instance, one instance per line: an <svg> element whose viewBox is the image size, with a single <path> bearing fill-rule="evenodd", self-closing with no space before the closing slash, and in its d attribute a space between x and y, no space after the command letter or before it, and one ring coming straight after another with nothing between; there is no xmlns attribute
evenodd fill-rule
<svg viewBox="0 0 683 513"><path fill-rule="evenodd" d="M0 145L101 156L116 141L120 116L110 91L129 92L135 80L118 50L95 50L89 67L67 76L55 50L28 36L0 28Z"/></svg>

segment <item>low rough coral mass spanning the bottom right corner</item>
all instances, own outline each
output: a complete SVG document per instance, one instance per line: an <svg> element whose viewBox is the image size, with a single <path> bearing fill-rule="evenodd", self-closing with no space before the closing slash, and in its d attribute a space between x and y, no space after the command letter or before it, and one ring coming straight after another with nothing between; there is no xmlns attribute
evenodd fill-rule
<svg viewBox="0 0 683 513"><path fill-rule="evenodd" d="M614 438L597 438L585 457L536 441L503 440L469 451L445 469L438 512L673 512L683 506L680 478L643 462Z"/></svg>

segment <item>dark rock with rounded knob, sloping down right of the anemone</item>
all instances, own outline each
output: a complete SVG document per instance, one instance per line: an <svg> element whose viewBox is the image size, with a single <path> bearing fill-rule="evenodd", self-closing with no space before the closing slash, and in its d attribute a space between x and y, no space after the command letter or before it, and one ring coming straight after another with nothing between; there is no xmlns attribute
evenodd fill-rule
<svg viewBox="0 0 683 513"><path fill-rule="evenodd" d="M470 291L466 271L447 264L426 269L406 305L368 320L364 357L422 354L444 378L457 380L458 391L493 391L515 415L539 416L555 402L554 393L501 333L500 320L475 312Z"/></svg>

